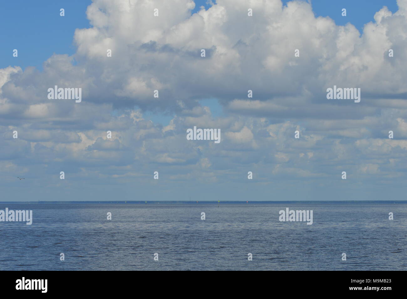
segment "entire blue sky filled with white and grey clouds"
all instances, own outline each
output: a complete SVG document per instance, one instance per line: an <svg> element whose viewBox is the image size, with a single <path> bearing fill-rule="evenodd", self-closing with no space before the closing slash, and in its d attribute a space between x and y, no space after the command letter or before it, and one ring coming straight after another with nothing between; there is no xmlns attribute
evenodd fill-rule
<svg viewBox="0 0 407 299"><path fill-rule="evenodd" d="M240 1L160 1L160 18L150 3L1 2L4 197L404 199L407 0L256 0L253 18ZM83 101L47 99L55 85ZM334 85L361 102L328 100ZM221 143L186 140L194 126Z"/></svg>

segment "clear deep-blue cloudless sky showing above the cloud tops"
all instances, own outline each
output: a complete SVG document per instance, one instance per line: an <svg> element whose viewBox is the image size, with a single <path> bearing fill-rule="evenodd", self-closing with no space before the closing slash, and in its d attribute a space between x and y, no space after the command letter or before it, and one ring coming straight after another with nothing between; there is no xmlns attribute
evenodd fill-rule
<svg viewBox="0 0 407 299"><path fill-rule="evenodd" d="M214 1L216 3L216 1ZM284 4L288 0L282 1ZM42 69L42 63L53 53L72 55L76 48L72 43L75 29L89 28L86 8L90 0L27 0L2 1L0 4L0 22L2 32L0 48L0 68L18 65L22 68L35 66ZM313 11L316 16L329 16L336 24L350 22L359 31L363 25L373 21L373 15L384 5L390 11L397 10L396 0L313 0ZM201 6L210 7L206 0L195 0L196 13ZM24 7L24 9L22 9ZM59 16L59 9L65 9L65 17ZM347 16L341 16L341 9L347 9ZM19 57L13 57L13 49L18 49Z"/></svg>

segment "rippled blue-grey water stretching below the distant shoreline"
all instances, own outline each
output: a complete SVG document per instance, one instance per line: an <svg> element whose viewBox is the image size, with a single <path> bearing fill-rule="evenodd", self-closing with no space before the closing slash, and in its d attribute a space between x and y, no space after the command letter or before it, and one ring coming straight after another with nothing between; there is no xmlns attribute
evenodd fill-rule
<svg viewBox="0 0 407 299"><path fill-rule="evenodd" d="M407 270L406 204L6 207L33 210L33 224L0 222L0 270ZM313 224L278 221L287 207Z"/></svg>

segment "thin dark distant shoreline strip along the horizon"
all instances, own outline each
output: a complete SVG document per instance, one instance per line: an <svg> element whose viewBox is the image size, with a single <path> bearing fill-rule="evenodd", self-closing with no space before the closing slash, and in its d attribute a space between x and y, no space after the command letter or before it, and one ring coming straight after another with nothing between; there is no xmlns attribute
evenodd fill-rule
<svg viewBox="0 0 407 299"><path fill-rule="evenodd" d="M0 204L218 204L217 200L119 200L119 201L1 201ZM407 200L284 200L246 202L237 200L221 200L220 204L407 204Z"/></svg>

